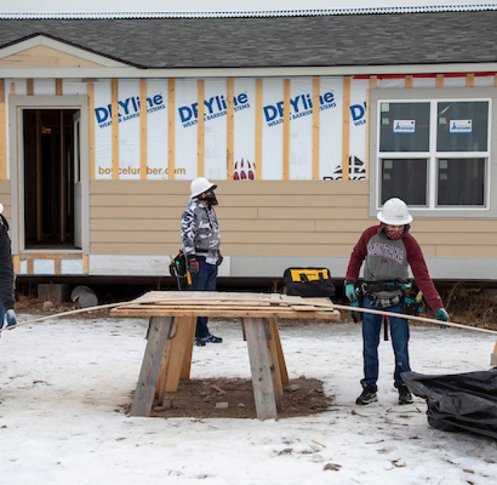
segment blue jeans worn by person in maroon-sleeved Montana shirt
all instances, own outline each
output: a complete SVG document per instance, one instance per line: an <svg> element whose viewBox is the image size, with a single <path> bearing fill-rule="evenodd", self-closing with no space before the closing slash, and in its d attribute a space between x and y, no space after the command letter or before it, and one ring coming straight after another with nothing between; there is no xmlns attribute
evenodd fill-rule
<svg viewBox="0 0 497 485"><path fill-rule="evenodd" d="M374 310L385 310L387 312L401 313L403 310L403 299L393 307L383 308L381 305L373 307L371 297L365 296L362 305L364 308L373 308ZM375 389L378 381L378 344L380 343L381 315L373 313L364 313L362 322L362 341L364 357L364 379L361 384L367 384ZM401 372L410 371L409 366L409 324L405 318L390 317L390 335L392 339L393 354L395 354L395 369L393 371L393 385L398 388L404 383L400 378Z"/></svg>

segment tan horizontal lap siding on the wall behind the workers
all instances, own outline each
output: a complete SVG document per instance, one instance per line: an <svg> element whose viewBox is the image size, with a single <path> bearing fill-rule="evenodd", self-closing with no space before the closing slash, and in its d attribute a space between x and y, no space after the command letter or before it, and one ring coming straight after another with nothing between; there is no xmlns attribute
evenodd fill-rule
<svg viewBox="0 0 497 485"><path fill-rule="evenodd" d="M92 180L91 254L175 254L190 182ZM216 212L230 256L349 256L368 217L360 181L223 181ZM426 257L497 257L497 219L417 217Z"/></svg>

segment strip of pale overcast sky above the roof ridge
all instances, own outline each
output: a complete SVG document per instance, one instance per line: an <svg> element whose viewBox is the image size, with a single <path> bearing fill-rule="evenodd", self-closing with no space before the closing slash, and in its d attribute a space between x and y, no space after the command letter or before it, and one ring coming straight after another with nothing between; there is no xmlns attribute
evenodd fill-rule
<svg viewBox="0 0 497 485"><path fill-rule="evenodd" d="M458 4L497 4L497 0L0 0L0 12L248 11Z"/></svg>

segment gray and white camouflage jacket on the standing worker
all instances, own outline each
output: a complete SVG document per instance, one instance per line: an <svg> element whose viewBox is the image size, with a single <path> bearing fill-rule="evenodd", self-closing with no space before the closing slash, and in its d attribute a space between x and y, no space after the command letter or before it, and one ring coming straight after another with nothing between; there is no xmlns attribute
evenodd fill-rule
<svg viewBox="0 0 497 485"><path fill-rule="evenodd" d="M215 264L218 258L219 224L212 207L204 207L198 199L190 199L181 216L181 244L185 256L205 256L205 262Z"/></svg>

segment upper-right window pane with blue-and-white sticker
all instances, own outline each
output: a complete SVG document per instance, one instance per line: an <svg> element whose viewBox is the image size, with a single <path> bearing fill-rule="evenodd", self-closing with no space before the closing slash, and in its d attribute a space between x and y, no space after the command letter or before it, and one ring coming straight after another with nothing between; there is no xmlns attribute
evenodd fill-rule
<svg viewBox="0 0 497 485"><path fill-rule="evenodd" d="M439 102L437 151L487 151L488 102Z"/></svg>

